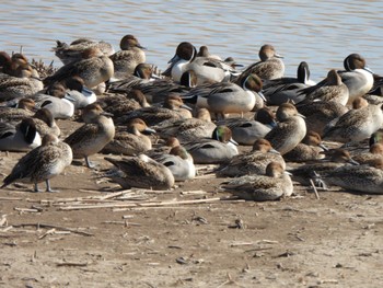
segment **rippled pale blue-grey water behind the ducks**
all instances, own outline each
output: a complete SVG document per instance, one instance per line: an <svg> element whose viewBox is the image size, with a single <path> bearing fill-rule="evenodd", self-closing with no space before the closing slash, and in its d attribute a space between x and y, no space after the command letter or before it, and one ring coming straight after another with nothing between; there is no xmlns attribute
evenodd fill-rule
<svg viewBox="0 0 383 288"><path fill-rule="evenodd" d="M55 60L55 41L103 39L117 50L120 38L134 34L148 48L147 61L166 68L178 43L207 45L222 58L249 65L258 49L272 44L285 57L286 76L300 61L309 62L321 80L344 58L359 53L376 73L383 73L382 1L21 1L0 3L0 43L8 53Z"/></svg>

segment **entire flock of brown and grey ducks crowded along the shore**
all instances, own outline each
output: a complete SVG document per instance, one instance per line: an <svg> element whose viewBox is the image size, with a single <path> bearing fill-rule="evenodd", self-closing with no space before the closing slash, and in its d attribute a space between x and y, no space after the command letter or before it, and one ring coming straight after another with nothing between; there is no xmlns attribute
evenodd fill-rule
<svg viewBox="0 0 383 288"><path fill-rule="evenodd" d="M297 182L383 194L383 78L361 55L314 83L305 61L286 77L269 44L241 65L183 42L163 72L144 50L134 35L117 51L57 41L59 69L1 51L0 150L21 155L1 188L51 192L73 159L94 169L103 153L103 176L123 188L170 189L208 164L220 189L247 200L288 197ZM56 119L83 124L62 135Z"/></svg>

